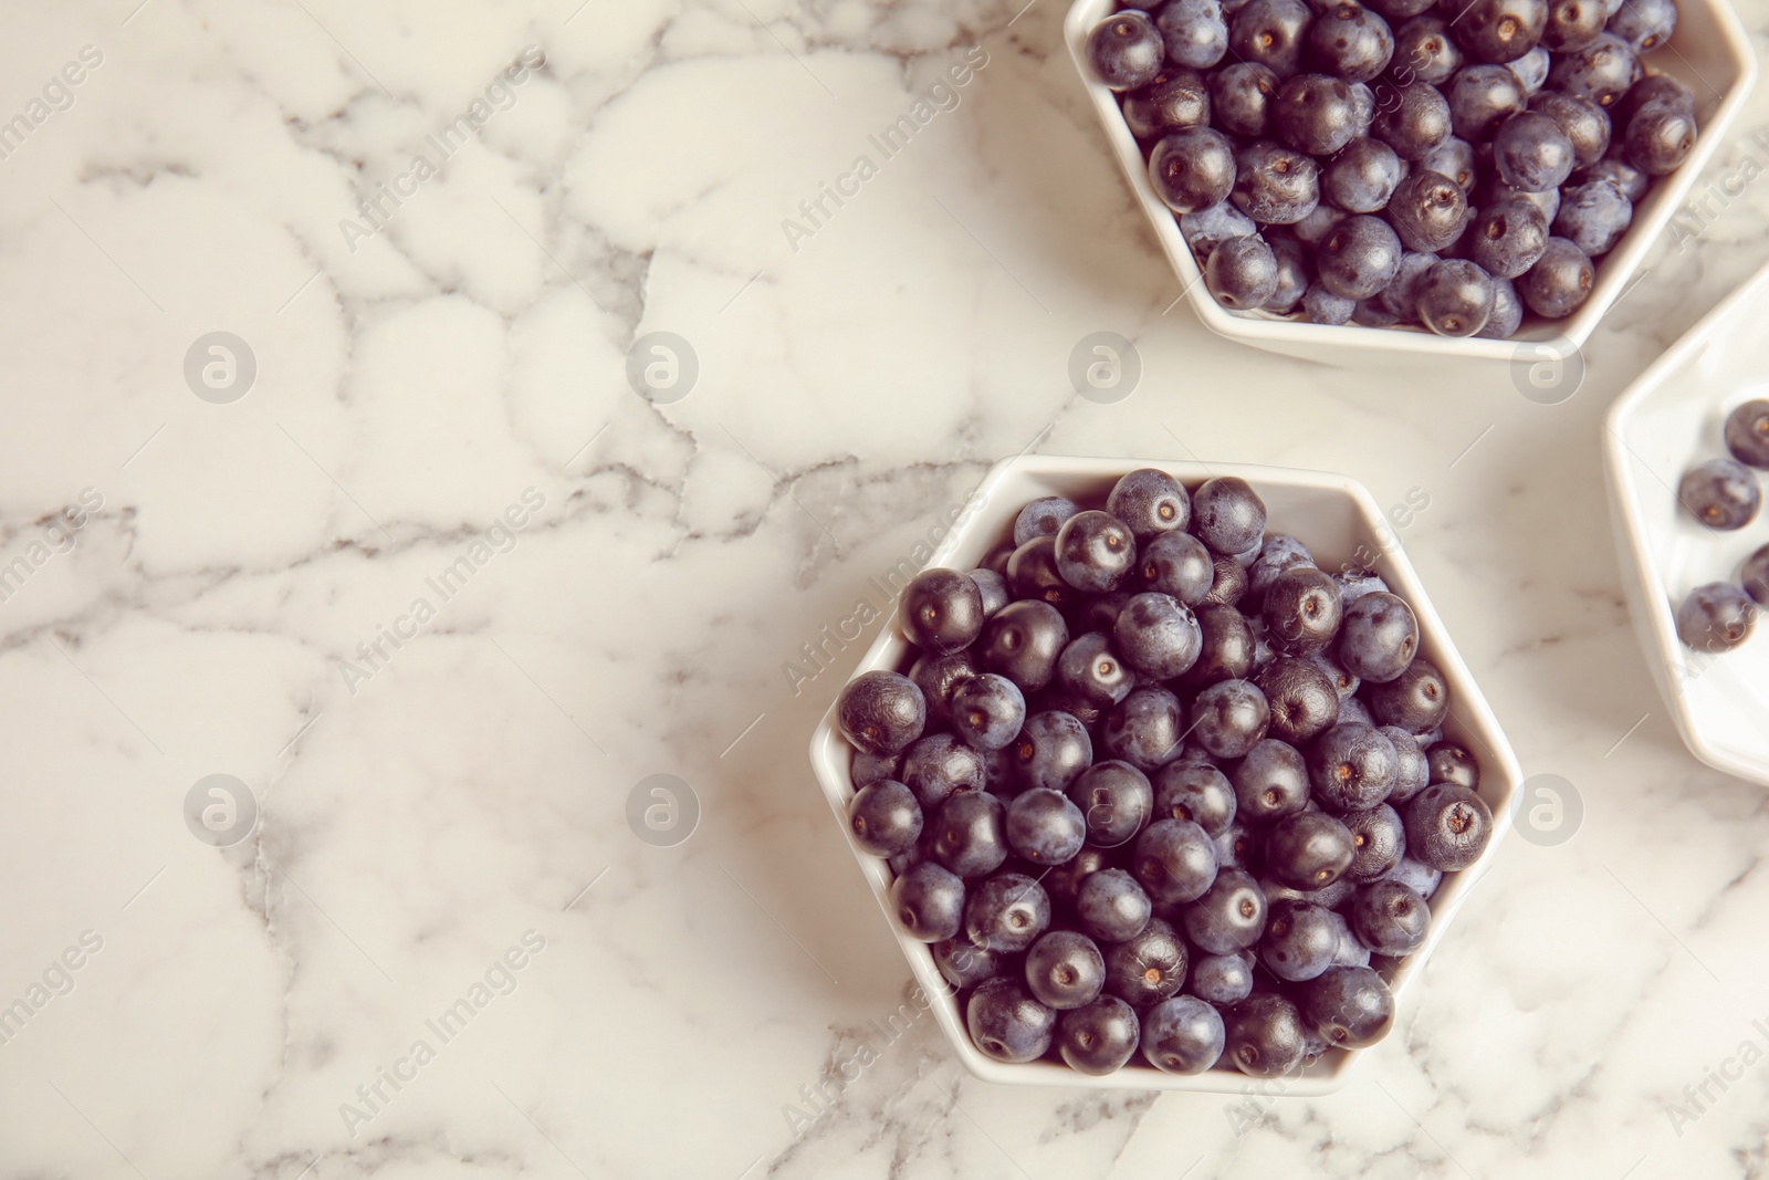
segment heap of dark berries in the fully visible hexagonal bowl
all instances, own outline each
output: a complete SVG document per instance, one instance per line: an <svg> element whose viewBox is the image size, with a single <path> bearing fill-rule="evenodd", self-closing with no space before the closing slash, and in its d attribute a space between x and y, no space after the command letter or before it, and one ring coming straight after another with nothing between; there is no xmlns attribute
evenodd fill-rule
<svg viewBox="0 0 1769 1180"><path fill-rule="evenodd" d="M1265 527L1238 478L1033 501L842 690L849 830L984 1054L1274 1077L1389 1031L1493 814L1413 610Z"/></svg>

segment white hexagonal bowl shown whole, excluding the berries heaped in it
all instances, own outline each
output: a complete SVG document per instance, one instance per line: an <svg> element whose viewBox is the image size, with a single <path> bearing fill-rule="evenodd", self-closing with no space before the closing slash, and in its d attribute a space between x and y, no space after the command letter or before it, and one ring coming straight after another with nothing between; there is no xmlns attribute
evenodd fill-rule
<svg viewBox="0 0 1769 1180"><path fill-rule="evenodd" d="M1212 476L1240 476L1247 479L1265 499L1270 527L1274 531L1298 536L1316 556L1321 566L1339 568L1352 563L1352 556L1360 548L1378 552L1382 557L1371 564L1389 586L1394 587L1419 616L1421 653L1436 663L1451 686L1451 720L1444 732L1467 745L1481 759L1481 796L1493 808L1493 842L1486 854L1472 869L1449 874L1436 895L1431 899L1431 936L1424 946L1412 954L1396 973L1392 989L1396 1003L1405 1003L1413 980L1419 978L1431 950L1445 936L1451 918L1461 906L1468 890L1491 865L1493 854L1511 830L1512 807L1518 801L1521 771L1516 755L1498 727L1498 720L1481 695L1468 665L1463 663L1456 647L1449 642L1444 621L1431 609L1419 575L1413 573L1406 554L1396 545L1392 529L1371 499L1355 479L1314 471L1291 471L1281 467L1252 467L1231 464L1178 464L1164 460L1127 460L1127 458L1065 458L1028 455L1003 460L978 485L966 515L950 533L939 548L929 557L930 566L950 566L973 570L991 548L1008 540L1014 517L1026 501L1040 495L1067 495L1081 504L1102 504L1106 494L1118 478L1137 467L1159 467L1171 472L1187 487L1196 487ZM872 669L907 670L909 642L902 639L895 626L886 626L874 640L865 658L854 669L854 676ZM890 909L888 888L890 869L883 860L865 853L853 842L847 830L847 800L854 794L851 775L853 747L842 738L835 724L835 706L824 713L823 722L810 739L810 762L823 784L823 793L830 800L837 824L847 833L844 839L854 853L860 872L872 895L877 899L884 920L890 923L897 943L902 946L909 969L915 973L922 991L934 1001L932 1012L939 1028L945 1030L959 1060L976 1077L1003 1084L1035 1086L1077 1086L1088 1090L1194 1090L1214 1093L1247 1093L1256 1084L1254 1079L1229 1070L1208 1070L1205 1074L1164 1074L1132 1058L1132 1063L1116 1074L1090 1077L1077 1074L1060 1061L1031 1061L1026 1065L1007 1065L984 1056L964 1028L964 1014L957 998L934 966L934 955L927 943L920 943L899 929ZM1399 1038L1383 1042L1387 1051L1399 1051ZM1383 1046L1360 1053L1380 1053ZM1330 1093L1344 1084L1346 1070L1360 1056L1343 1049L1330 1049L1323 1058L1309 1065L1300 1076L1286 1077L1281 1086L1258 1083L1261 1093L1283 1092L1288 1095Z"/></svg>

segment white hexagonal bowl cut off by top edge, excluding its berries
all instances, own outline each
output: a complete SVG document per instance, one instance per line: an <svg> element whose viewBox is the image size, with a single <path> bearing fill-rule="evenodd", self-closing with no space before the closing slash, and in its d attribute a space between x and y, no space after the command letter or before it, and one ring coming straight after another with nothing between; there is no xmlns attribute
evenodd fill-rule
<svg viewBox="0 0 1769 1180"><path fill-rule="evenodd" d="M1451 340L1421 327L1359 327L1329 326L1291 320L1267 311L1229 311L1219 304L1203 285L1203 272L1191 248L1180 235L1180 223L1148 182L1148 165L1143 149L1130 134L1129 124L1114 96L1093 78L1086 60L1088 32L1118 9L1114 0L1076 0L1068 9L1063 35L1074 57L1081 81L1086 85L1099 111L1113 154L1123 166L1136 202L1143 207L1160 248L1173 264L1192 310L1205 326L1229 340L1329 364L1421 364L1436 357L1486 357L1512 361L1520 341L1555 341L1560 356L1581 349L1597 320L1627 288L1627 281L1645 260L1652 242L1670 225L1695 188L1702 168L1712 157L1727 127L1737 117L1751 85L1757 81L1757 55L1751 51L1744 25L1725 0L1681 0L1677 32L1672 39L1645 55L1654 73L1672 74L1684 81L1696 99L1700 138L1689 159L1672 175L1661 177L1640 205L1635 207L1635 225L1627 237L1597 262L1597 288L1578 313L1564 320L1525 317L1512 340ZM1535 359L1535 352L1530 352Z"/></svg>

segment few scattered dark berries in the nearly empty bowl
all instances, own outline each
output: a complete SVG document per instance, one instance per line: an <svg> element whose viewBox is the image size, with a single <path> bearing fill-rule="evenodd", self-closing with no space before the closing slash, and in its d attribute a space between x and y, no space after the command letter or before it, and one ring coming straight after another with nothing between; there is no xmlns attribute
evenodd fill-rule
<svg viewBox="0 0 1769 1180"><path fill-rule="evenodd" d="M1732 458L1691 467L1677 501L1698 524L1735 533L1762 511L1757 471L1769 471L1769 402L1746 402L1727 416L1727 451ZM1677 609L1677 637L1695 651L1732 651L1751 637L1758 607L1769 607L1769 545L1744 559L1739 582L1696 586Z"/></svg>

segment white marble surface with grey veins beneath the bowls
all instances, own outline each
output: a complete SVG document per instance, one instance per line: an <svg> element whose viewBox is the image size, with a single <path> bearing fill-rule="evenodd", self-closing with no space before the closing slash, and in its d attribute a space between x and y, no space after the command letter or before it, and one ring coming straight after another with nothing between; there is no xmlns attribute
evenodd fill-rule
<svg viewBox="0 0 1769 1180"><path fill-rule="evenodd" d="M0 1003L41 1003L0 1044L0 1175L1769 1171L1769 1065L1670 1113L1769 1044L1769 808L1652 693L1597 448L1769 258L1769 188L1661 249L1543 407L1164 313L1060 0L136 4L12 5L0 39L7 119L103 55L0 159L0 564L28 571L0 601ZM525 46L545 65L474 108ZM952 110L789 241L968 55ZM410 195L341 230L377 184ZM1100 329L1145 361L1118 405L1065 377ZM211 331L257 357L228 405L182 375ZM672 405L624 380L649 331L699 356ZM998 1090L929 1021L794 1136L907 969L805 761L860 647L798 695L782 663L1033 439L1424 488L1408 552L1583 828L1504 847L1339 1095L1237 1127L1231 1099ZM182 814L212 773L260 808L225 849ZM676 847L626 823L653 773L701 800Z"/></svg>

